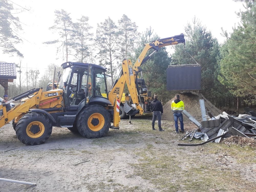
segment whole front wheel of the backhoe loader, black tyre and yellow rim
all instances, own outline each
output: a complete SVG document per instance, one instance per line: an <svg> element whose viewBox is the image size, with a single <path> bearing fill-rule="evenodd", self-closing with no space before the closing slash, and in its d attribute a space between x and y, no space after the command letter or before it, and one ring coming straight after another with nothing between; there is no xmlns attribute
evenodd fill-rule
<svg viewBox="0 0 256 192"><path fill-rule="evenodd" d="M44 143L50 137L51 132L51 120L42 113L28 113L16 124L16 135L26 145Z"/></svg>

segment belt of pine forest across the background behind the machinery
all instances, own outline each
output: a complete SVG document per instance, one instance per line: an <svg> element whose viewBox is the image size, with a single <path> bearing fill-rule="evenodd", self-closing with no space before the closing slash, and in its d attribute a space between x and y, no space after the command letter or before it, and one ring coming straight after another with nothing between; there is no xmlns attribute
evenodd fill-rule
<svg viewBox="0 0 256 192"><path fill-rule="evenodd" d="M236 0L237 1L237 0ZM223 26L220 33L226 40L220 44L199 18L191 18L184 28L186 45L173 46L172 54L162 48L144 65L143 78L153 94L160 95L164 103L176 93L166 90L166 69L170 65L201 65L201 90L208 100L218 108L255 107L256 104L256 3L254 0L240 0L243 10L234 14L240 19L233 31L228 33ZM18 8L17 8L18 7ZM26 67L23 52L17 48L23 43L19 31L23 22L17 10L27 9L9 0L0 0L0 48L3 54L18 57L17 79L9 83L10 97L31 88L43 87L52 81L53 68L61 73L60 65L48 64L44 70ZM15 12L15 14L14 14ZM134 63L144 48L144 44L158 39L150 26L138 31L136 22L123 15L115 22L108 17L97 24L93 34L89 17L72 18L68 10L55 10L55 18L49 30L55 39L49 37L42 42L54 46L63 61L96 63L108 68L108 89L110 89L124 58ZM223 18L225 19L225 18ZM173 34L178 35L178 34ZM57 75L56 75L57 79ZM0 95L4 89L0 86Z"/></svg>

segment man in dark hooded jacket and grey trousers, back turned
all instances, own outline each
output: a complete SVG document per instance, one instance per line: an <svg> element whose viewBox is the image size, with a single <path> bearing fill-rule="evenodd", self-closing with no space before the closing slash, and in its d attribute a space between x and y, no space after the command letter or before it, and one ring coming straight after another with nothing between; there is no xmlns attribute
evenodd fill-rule
<svg viewBox="0 0 256 192"><path fill-rule="evenodd" d="M160 101L157 100L157 95L154 96L154 100L151 102L150 106L151 111L153 112L152 130L156 130L155 121L157 118L159 131L164 131L161 128L161 115L163 114L163 105Z"/></svg>

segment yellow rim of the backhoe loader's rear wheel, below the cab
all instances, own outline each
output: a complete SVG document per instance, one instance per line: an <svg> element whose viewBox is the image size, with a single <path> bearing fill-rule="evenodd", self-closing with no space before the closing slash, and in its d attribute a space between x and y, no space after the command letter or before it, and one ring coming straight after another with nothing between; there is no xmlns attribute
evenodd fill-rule
<svg viewBox="0 0 256 192"><path fill-rule="evenodd" d="M92 131L99 131L103 128L105 119L100 113L93 113L88 119L88 127Z"/></svg>

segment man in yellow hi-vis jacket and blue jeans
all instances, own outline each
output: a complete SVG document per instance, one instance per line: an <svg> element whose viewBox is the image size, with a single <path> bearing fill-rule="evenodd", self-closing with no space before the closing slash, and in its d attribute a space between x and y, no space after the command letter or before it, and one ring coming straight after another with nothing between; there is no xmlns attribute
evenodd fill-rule
<svg viewBox="0 0 256 192"><path fill-rule="evenodd" d="M173 116L175 121L175 129L176 133L179 133L179 126L178 126L178 118L180 122L180 132L184 132L184 124L183 124L183 115L182 111L184 110L184 103L179 98L179 95L176 95L176 99L172 101L171 109L173 110Z"/></svg>

